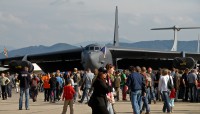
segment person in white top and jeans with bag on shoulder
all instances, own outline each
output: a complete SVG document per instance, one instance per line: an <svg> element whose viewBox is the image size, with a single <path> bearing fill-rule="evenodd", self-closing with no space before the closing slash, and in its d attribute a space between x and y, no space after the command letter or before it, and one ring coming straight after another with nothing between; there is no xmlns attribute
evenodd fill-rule
<svg viewBox="0 0 200 114"><path fill-rule="evenodd" d="M162 98L163 98L163 101L164 101L164 105L163 105L163 109L162 109L162 111L164 113L166 112L166 110L167 110L167 113L171 113L171 107L169 105L169 103L170 103L170 98L169 98L170 90L168 89L168 81L171 80L172 85L173 85L173 81L172 81L172 77L169 76L168 73L169 73L168 69L162 69L160 80L159 80L159 85L158 85L158 90L161 92Z"/></svg>

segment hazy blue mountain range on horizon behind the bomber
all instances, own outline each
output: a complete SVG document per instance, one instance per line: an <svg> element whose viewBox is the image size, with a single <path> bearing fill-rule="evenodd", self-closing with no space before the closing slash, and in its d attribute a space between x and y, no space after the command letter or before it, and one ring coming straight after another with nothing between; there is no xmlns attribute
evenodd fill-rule
<svg viewBox="0 0 200 114"><path fill-rule="evenodd" d="M79 44L81 46L81 44ZM85 44L84 44L85 45ZM107 46L112 45L111 43L106 43ZM146 49L146 50L159 50L159 51L170 51L173 45L173 40L154 40L154 41L140 41L134 43L120 43L121 47L129 47L134 49ZM178 41L178 51L185 52L197 52L197 40L193 41ZM66 43L57 43L52 46L29 46L20 49L13 49L8 51L9 57L23 56L26 54L39 54L46 52L61 51L67 49L77 48L78 46L66 44ZM0 58L5 58L3 54L3 46L0 46L2 53Z"/></svg>

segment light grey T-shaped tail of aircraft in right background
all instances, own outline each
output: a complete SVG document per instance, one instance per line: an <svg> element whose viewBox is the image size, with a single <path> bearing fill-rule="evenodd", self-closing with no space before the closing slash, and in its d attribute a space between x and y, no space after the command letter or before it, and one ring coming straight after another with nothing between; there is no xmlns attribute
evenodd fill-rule
<svg viewBox="0 0 200 114"><path fill-rule="evenodd" d="M181 29L200 29L200 27L169 27L169 28L153 28L151 30L168 30L168 29L173 29L174 30L174 43L172 46L171 51L177 51L177 45L178 45L178 37L177 37L177 32L180 31Z"/></svg>

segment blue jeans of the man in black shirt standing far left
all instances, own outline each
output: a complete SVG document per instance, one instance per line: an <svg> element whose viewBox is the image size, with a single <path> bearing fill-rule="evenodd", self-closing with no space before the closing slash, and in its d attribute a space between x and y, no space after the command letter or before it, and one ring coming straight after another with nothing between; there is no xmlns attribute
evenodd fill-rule
<svg viewBox="0 0 200 114"><path fill-rule="evenodd" d="M29 108L29 88L25 89L20 87L20 97L19 97L19 109L22 109L23 104L23 94L25 93L25 108Z"/></svg>

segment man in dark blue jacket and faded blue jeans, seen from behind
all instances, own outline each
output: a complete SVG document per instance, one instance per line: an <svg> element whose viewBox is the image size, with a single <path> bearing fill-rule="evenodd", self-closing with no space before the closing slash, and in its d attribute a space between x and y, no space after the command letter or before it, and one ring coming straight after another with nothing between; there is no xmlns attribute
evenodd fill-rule
<svg viewBox="0 0 200 114"><path fill-rule="evenodd" d="M131 103L134 114L140 114L142 95L145 95L144 77L139 73L140 67L131 67L131 74L127 79L127 85L131 88Z"/></svg>

